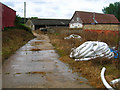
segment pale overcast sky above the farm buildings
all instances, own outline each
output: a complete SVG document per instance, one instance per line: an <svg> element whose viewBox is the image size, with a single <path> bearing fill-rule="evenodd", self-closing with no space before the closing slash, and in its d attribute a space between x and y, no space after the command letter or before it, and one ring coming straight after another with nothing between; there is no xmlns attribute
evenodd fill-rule
<svg viewBox="0 0 120 90"><path fill-rule="evenodd" d="M70 19L75 11L102 13L103 7L120 0L1 0L21 17L24 16L24 1L27 17Z"/></svg>

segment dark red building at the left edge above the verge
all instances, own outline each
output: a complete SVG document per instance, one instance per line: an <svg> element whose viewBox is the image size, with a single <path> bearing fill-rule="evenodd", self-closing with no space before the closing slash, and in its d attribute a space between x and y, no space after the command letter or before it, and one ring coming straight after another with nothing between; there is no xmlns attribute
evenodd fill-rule
<svg viewBox="0 0 120 90"><path fill-rule="evenodd" d="M1 7L0 21L2 21L2 30L4 30L5 27L13 27L16 18L16 11L2 4L1 2L0 7Z"/></svg>

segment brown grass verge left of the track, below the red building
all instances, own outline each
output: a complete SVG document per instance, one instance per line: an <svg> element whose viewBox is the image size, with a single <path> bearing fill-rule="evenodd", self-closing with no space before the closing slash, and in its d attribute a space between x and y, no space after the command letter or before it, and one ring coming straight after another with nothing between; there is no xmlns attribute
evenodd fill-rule
<svg viewBox="0 0 120 90"><path fill-rule="evenodd" d="M32 33L23 29L8 29L2 31L2 63L32 38L34 38Z"/></svg>

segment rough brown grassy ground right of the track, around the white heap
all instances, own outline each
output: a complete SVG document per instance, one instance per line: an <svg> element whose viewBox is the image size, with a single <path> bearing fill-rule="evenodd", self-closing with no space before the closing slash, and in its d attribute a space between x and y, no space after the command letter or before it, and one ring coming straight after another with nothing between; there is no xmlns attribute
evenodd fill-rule
<svg viewBox="0 0 120 90"><path fill-rule="evenodd" d="M82 39L64 39L71 34L77 34L82 37ZM108 82L113 79L120 77L120 62L118 59L108 59L108 58L96 58L89 61L75 61L70 58L71 48L78 47L85 41L102 41L108 44L109 47L116 47L118 49L118 34L98 34L96 32L85 32L76 31L68 29L58 29L56 28L55 33L48 33L51 43L55 46L56 52L60 55L60 60L64 63L69 64L73 72L78 72L86 77L91 85L97 88L103 88L104 85L101 81L100 72L102 67L106 67L105 77Z"/></svg>

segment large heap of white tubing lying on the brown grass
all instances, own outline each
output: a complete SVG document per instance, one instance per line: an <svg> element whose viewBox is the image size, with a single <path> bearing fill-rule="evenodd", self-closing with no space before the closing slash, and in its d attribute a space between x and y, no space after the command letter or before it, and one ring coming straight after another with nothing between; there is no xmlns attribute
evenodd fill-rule
<svg viewBox="0 0 120 90"><path fill-rule="evenodd" d="M97 57L114 57L114 53L110 51L108 45L99 41L87 41L77 48L72 48L70 53L71 58L75 61L90 60Z"/></svg>

